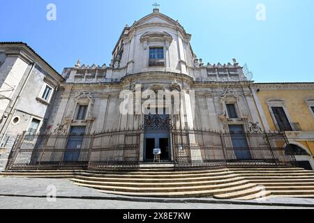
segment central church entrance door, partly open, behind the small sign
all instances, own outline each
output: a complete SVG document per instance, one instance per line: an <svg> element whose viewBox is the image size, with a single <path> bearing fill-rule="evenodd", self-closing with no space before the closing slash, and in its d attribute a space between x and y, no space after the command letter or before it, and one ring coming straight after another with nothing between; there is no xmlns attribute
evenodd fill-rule
<svg viewBox="0 0 314 223"><path fill-rule="evenodd" d="M160 160L170 160L170 137L167 133L147 133L144 137L144 160L154 160L154 148L160 148Z"/></svg>

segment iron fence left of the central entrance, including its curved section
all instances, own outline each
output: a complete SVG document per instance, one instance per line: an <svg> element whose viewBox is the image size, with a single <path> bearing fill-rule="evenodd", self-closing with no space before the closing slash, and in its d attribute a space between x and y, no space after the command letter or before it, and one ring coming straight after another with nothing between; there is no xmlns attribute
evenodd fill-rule
<svg viewBox="0 0 314 223"><path fill-rule="evenodd" d="M21 134L6 169L135 170L140 131L102 134Z"/></svg>

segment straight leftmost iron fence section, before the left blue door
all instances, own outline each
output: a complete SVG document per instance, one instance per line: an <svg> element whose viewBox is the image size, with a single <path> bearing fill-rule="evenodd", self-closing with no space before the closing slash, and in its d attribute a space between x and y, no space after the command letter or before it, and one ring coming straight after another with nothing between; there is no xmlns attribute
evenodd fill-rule
<svg viewBox="0 0 314 223"><path fill-rule="evenodd" d="M93 136L20 134L8 158L7 169L84 169Z"/></svg>

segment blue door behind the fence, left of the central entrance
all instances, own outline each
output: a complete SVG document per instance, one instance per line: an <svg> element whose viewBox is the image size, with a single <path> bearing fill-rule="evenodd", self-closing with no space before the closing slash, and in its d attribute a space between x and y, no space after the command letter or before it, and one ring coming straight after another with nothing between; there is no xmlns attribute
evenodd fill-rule
<svg viewBox="0 0 314 223"><path fill-rule="evenodd" d="M79 160L85 128L85 126L73 126L71 128L68 144L66 145L66 152L63 156L63 162L77 162Z"/></svg>

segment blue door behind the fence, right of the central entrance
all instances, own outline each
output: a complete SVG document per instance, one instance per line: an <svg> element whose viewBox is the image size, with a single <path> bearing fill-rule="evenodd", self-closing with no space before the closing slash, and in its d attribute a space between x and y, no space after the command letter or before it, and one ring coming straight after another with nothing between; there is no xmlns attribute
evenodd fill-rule
<svg viewBox="0 0 314 223"><path fill-rule="evenodd" d="M251 154L248 147L248 141L244 134L243 125L229 125L230 137L234 154L237 160L251 160Z"/></svg>

